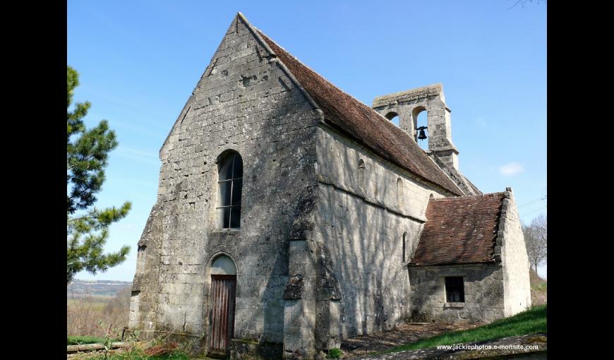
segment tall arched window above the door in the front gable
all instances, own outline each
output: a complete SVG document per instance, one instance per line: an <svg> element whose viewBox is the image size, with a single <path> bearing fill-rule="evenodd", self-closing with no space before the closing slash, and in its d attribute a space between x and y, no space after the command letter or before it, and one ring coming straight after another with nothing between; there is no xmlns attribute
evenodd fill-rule
<svg viewBox="0 0 614 360"><path fill-rule="evenodd" d="M217 168L217 224L221 229L241 227L243 160L235 151L224 154Z"/></svg>

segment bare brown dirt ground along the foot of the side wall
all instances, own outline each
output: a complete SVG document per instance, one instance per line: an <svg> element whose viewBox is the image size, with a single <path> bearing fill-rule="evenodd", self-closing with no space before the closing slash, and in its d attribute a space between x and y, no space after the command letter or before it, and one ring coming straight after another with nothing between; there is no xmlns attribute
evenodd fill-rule
<svg viewBox="0 0 614 360"><path fill-rule="evenodd" d="M385 332L375 332L371 335L352 337L343 340L341 349L344 359L351 359L356 356L363 356L370 352L379 352L390 347L395 347L409 342L416 342L424 337L439 335L442 332L455 330L466 330L476 328L481 323L408 323L399 325L395 330Z"/></svg>

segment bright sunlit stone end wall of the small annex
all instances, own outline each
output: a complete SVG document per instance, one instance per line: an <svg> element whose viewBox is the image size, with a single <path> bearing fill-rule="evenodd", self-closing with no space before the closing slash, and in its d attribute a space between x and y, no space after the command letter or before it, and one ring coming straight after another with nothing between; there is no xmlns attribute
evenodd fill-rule
<svg viewBox="0 0 614 360"><path fill-rule="evenodd" d="M505 316L512 316L531 306L529 257L512 188L505 191L495 255L500 253L505 282Z"/></svg>

